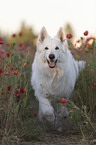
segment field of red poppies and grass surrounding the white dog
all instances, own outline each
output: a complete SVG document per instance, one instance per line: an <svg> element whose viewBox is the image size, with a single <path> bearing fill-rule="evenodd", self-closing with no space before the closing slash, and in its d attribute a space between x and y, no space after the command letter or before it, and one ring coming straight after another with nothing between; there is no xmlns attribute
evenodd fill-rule
<svg viewBox="0 0 96 145"><path fill-rule="evenodd" d="M66 35L72 55L85 60L86 68L80 73L71 99L60 100L64 105L68 103L71 121L71 125L67 124L69 131L66 129L61 134L38 120L38 101L30 83L35 45L4 42L0 37L0 144L43 144L45 140L50 144L50 133L61 135L65 144L71 144L73 140L69 136L73 134L79 135L77 143L82 139L82 144L96 143L96 38L88 37L88 33L85 31L75 44L71 42L72 35ZM16 34L12 37L15 40ZM68 138L71 141L66 142Z"/></svg>

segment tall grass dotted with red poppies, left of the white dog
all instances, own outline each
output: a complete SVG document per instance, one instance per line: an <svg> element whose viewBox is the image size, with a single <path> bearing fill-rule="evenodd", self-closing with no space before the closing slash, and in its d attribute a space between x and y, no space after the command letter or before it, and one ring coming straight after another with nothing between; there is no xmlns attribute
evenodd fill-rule
<svg viewBox="0 0 96 145"><path fill-rule="evenodd" d="M40 140L44 136L37 124L30 85L32 51L20 50L17 44L0 48L0 140L12 144L25 140ZM3 50L3 51L2 51Z"/></svg>

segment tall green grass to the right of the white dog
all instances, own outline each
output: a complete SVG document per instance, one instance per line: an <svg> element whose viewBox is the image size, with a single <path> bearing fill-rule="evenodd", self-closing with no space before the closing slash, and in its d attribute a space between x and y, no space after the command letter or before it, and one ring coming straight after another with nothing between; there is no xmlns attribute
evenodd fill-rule
<svg viewBox="0 0 96 145"><path fill-rule="evenodd" d="M77 59L86 61L85 69L80 72L68 108L70 117L84 138L96 138L96 45L94 51L83 50Z"/></svg>

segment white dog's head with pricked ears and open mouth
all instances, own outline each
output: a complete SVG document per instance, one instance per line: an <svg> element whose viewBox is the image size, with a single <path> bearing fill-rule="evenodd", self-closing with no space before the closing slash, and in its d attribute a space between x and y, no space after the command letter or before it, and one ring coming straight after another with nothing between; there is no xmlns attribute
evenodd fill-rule
<svg viewBox="0 0 96 145"><path fill-rule="evenodd" d="M60 28L54 38L50 38L45 27L41 29L37 41L37 52L43 63L50 68L55 66L62 60L62 54L66 53L68 44L63 28Z"/></svg>

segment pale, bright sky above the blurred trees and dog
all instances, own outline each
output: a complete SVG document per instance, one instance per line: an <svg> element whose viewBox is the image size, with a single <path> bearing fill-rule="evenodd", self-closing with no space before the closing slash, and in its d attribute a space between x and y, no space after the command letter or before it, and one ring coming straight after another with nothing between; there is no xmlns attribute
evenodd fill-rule
<svg viewBox="0 0 96 145"><path fill-rule="evenodd" d="M22 21L37 34L45 26L52 37L67 23L76 37L96 35L96 0L0 0L0 31L15 33Z"/></svg>

